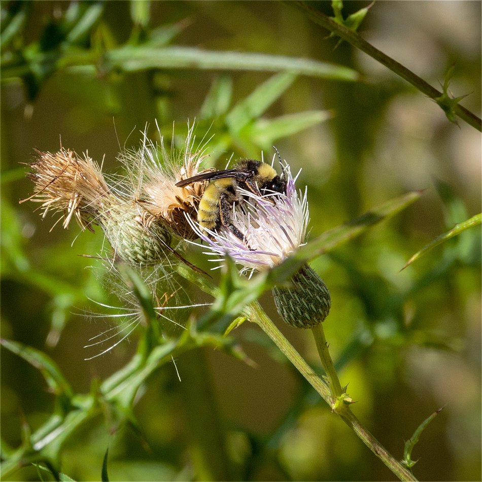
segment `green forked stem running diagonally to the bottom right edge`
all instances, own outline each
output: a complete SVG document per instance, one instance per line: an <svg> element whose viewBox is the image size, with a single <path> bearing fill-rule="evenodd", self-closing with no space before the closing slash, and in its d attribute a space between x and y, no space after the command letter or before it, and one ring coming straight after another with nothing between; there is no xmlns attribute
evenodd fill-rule
<svg viewBox="0 0 482 482"><path fill-rule="evenodd" d="M306 378L309 384L323 397L323 399L332 407L333 411L341 417L345 422L365 443L365 445L378 457L400 480L417 480L405 466L403 466L395 457L393 457L383 445L360 423L350 407L347 404L339 403L334 406L333 393L340 391L342 395L342 388L338 381L333 362L328 353L328 346L324 337L323 330L317 332L315 340L317 347L321 343L323 352L323 363L326 362L326 371L328 379L332 387L330 390L315 371L303 360L300 354L293 348L291 343L284 337L283 333L274 325L266 313L263 311L258 302L251 303L244 309L245 315L254 323L256 323L276 344L276 346L286 355L291 363L298 369L298 371ZM319 349L320 351L320 349Z"/></svg>

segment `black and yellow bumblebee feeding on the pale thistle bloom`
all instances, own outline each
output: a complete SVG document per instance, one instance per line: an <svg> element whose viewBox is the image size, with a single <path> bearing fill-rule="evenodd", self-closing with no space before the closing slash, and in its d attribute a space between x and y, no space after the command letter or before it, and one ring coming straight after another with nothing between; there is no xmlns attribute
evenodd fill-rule
<svg viewBox="0 0 482 482"><path fill-rule="evenodd" d="M272 192L286 192L284 171L280 176L271 165L253 159L240 159L232 169L202 173L184 179L176 186L184 187L203 181L210 181L210 183L199 201L197 211L199 225L210 231L217 231L224 226L242 242L246 242L245 235L234 226L230 216L232 206L243 201L239 188L251 191L257 196ZM274 203L271 198L267 199Z"/></svg>

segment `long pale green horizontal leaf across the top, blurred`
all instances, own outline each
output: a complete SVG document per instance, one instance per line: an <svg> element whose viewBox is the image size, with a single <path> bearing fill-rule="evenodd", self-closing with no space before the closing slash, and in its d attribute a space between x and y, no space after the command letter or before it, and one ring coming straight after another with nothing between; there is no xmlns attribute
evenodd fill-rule
<svg viewBox="0 0 482 482"><path fill-rule="evenodd" d="M358 72L351 68L307 58L259 53L210 51L192 47L124 46L105 54L104 68L125 72L150 68L189 68L191 70L241 70L257 72L291 72L323 79L356 81Z"/></svg>

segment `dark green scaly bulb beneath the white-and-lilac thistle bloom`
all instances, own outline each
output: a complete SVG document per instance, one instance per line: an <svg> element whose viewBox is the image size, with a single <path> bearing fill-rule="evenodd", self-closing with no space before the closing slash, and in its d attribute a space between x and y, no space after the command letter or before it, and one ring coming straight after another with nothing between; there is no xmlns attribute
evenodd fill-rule
<svg viewBox="0 0 482 482"><path fill-rule="evenodd" d="M295 328L313 328L324 321L331 308L330 292L315 270L303 266L290 284L272 290L281 318Z"/></svg>

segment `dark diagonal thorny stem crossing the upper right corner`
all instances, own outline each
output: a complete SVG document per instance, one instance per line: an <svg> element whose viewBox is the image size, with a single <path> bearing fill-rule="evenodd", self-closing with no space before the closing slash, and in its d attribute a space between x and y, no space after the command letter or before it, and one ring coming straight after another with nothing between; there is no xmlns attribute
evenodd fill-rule
<svg viewBox="0 0 482 482"><path fill-rule="evenodd" d="M369 44L366 40L360 37L357 32L345 27L344 25L340 25L324 13L319 12L305 2L296 0L293 2L287 2L287 4L290 6L295 6L298 9L302 10L309 19L313 20L318 25L326 28L330 32L335 33L338 37L347 41L349 44L353 45L357 49L360 49L362 52L365 52L367 55L374 58L377 62L385 65L392 72L409 82L411 85L416 87L418 90L420 90L431 99L435 100L437 97L440 97L442 95L442 92L432 87L429 83L420 78L418 75L414 74L407 67L397 62L393 58L389 57L388 55L384 54L377 48L373 47L373 45ZM470 112L468 109L457 104L454 108L454 113L463 121L467 122L467 124L475 127L478 131L482 132L482 121L479 117Z"/></svg>

